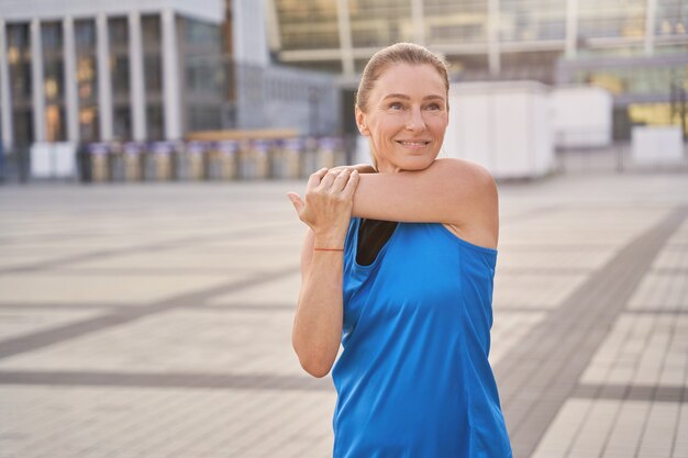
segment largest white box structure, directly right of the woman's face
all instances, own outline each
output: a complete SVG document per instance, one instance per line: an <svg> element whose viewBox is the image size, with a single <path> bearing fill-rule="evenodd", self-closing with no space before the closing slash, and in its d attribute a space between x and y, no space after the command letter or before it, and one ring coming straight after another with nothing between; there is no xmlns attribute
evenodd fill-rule
<svg viewBox="0 0 688 458"><path fill-rule="evenodd" d="M444 152L497 179L535 178L554 165L548 89L535 81L454 83Z"/></svg>

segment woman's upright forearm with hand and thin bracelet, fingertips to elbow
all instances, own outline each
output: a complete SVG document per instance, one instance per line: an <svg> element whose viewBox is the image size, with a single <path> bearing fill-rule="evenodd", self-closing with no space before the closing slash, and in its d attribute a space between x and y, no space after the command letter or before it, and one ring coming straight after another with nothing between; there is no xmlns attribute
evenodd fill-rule
<svg viewBox="0 0 688 458"><path fill-rule="evenodd" d="M304 200L289 194L299 217L309 226L301 253L301 290L292 345L301 367L313 377L330 372L340 349L343 248L357 183L356 171L320 170L309 179Z"/></svg>

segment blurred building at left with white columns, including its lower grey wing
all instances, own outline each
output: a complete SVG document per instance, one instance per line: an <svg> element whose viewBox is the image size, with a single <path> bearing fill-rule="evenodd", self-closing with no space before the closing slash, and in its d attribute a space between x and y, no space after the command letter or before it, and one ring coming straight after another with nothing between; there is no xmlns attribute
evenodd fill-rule
<svg viewBox="0 0 688 458"><path fill-rule="evenodd" d="M335 132L330 75L270 65L263 1L0 0L0 139Z"/></svg>

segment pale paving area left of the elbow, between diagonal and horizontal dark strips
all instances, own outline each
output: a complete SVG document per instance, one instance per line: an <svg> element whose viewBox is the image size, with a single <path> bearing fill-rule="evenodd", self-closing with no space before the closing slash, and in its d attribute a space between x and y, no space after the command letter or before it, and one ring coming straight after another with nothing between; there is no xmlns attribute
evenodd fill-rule
<svg viewBox="0 0 688 458"><path fill-rule="evenodd" d="M307 377L293 311L171 310L0 360L0 370L271 373Z"/></svg>

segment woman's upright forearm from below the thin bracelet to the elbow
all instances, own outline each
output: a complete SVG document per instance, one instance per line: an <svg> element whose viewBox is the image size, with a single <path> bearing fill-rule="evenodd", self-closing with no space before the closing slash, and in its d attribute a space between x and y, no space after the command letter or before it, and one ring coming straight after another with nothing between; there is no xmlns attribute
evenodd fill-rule
<svg viewBox="0 0 688 458"><path fill-rule="evenodd" d="M340 349L343 257L342 252L313 252L301 286L292 345L303 369L314 377L330 372Z"/></svg>

